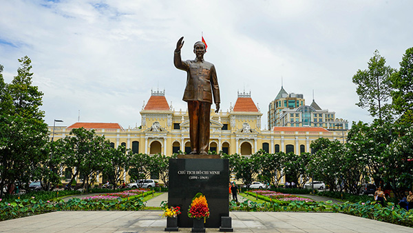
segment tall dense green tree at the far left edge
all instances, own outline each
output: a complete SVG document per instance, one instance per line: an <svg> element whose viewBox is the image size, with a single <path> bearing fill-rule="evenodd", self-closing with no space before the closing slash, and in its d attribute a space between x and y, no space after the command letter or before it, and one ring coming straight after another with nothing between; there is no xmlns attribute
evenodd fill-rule
<svg viewBox="0 0 413 233"><path fill-rule="evenodd" d="M43 93L32 85L31 60L19 59L21 67L10 84L0 76L0 194L14 181L29 183L34 170L47 159L44 151L49 131L40 110ZM0 73L3 66L0 68Z"/></svg>

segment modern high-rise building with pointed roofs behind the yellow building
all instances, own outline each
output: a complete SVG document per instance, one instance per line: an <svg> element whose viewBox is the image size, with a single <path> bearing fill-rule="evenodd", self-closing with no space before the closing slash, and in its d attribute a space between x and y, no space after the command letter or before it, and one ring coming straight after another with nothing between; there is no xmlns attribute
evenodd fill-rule
<svg viewBox="0 0 413 233"><path fill-rule="evenodd" d="M268 130L277 126L348 130L348 121L336 118L335 112L321 109L314 99L306 105L303 94L288 94L281 87L277 97L268 105Z"/></svg>

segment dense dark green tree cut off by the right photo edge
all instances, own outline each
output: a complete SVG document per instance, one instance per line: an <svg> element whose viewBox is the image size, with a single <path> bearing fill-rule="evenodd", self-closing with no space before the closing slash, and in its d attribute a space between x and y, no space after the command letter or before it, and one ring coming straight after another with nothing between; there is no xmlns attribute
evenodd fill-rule
<svg viewBox="0 0 413 233"><path fill-rule="evenodd" d="M402 121L413 123L413 47L403 55L399 72L392 75L392 84L394 109Z"/></svg>

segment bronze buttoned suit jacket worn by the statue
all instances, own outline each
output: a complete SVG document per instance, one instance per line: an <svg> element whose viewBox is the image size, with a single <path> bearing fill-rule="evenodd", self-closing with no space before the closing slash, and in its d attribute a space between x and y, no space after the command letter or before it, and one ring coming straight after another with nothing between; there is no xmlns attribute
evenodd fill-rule
<svg viewBox="0 0 413 233"><path fill-rule="evenodd" d="M175 52L173 64L176 68L187 72L187 87L182 98L184 101L212 103L213 96L214 103L220 103L220 87L213 63L203 59L182 61L180 52Z"/></svg>

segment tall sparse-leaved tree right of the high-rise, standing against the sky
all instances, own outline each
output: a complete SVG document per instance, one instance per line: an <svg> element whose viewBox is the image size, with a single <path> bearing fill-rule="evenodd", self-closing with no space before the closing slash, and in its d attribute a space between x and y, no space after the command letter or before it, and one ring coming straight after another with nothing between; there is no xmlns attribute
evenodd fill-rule
<svg viewBox="0 0 413 233"><path fill-rule="evenodd" d="M372 117L379 117L380 120L392 119L390 92L392 85L390 76L394 70L385 65L384 57L379 51L374 51L374 56L368 61L367 70L357 70L352 77L352 82L357 85L359 95L358 105L361 108L368 108Z"/></svg>

